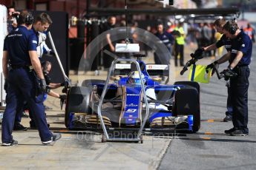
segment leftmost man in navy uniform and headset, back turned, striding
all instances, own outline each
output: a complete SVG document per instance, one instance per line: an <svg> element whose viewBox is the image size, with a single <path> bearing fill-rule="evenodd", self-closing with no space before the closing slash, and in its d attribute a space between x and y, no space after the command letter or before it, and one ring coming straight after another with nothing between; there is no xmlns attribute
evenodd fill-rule
<svg viewBox="0 0 256 170"><path fill-rule="evenodd" d="M7 106L1 126L2 146L18 144L16 140L13 140L12 130L17 106L20 103L23 104L24 100L33 112L42 143L48 144L61 137L59 134L53 135L47 127L42 104L46 83L39 58L36 55L38 37L27 30L32 24L33 16L22 12L18 19L19 26L4 39L3 73L9 86L6 97ZM48 24L42 27L48 27ZM10 64L9 71L7 64Z"/></svg>

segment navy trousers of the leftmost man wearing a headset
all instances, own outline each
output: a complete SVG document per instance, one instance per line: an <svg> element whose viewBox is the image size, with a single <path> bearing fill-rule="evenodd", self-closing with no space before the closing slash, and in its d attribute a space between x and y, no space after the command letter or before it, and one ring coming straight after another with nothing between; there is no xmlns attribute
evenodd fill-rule
<svg viewBox="0 0 256 170"><path fill-rule="evenodd" d="M3 143L11 143L13 140L12 131L15 120L16 109L23 98L27 101L28 106L34 116L36 126L39 129L39 136L42 141L48 141L52 138L52 133L47 127L45 118L45 108L43 106L44 95L36 96L36 74L28 69L18 68L10 69L8 75L10 86L7 89L6 109L1 125L1 140Z"/></svg>

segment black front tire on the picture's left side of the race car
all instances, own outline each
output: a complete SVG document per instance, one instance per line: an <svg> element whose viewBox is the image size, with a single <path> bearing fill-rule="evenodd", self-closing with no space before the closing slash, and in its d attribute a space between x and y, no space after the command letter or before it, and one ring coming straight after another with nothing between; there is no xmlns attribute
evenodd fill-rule
<svg viewBox="0 0 256 170"><path fill-rule="evenodd" d="M70 113L91 114L91 89L85 86L72 86L68 91L65 108L65 126L69 127Z"/></svg>

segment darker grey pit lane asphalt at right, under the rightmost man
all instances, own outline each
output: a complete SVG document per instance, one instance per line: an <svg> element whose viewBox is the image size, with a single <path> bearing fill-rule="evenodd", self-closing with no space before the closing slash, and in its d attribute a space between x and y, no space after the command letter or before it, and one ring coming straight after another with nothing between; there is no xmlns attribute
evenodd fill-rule
<svg viewBox="0 0 256 170"><path fill-rule="evenodd" d="M225 51L224 51L225 52ZM196 134L174 137L158 169L256 169L256 51L253 48L249 77L249 136L224 134L232 122L223 122L226 112L225 81L217 76L201 87L201 128ZM206 61L200 61L206 63ZM220 66L220 70L227 64Z"/></svg>

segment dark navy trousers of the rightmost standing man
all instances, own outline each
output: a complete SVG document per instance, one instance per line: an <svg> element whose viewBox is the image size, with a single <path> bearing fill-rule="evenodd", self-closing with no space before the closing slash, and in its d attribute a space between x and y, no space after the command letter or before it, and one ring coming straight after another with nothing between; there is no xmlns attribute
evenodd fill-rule
<svg viewBox="0 0 256 170"><path fill-rule="evenodd" d="M232 106L233 106L233 125L234 128L249 133L248 124L248 88L250 69L248 66L235 67L234 72L237 77L231 78L230 87L232 89Z"/></svg>

